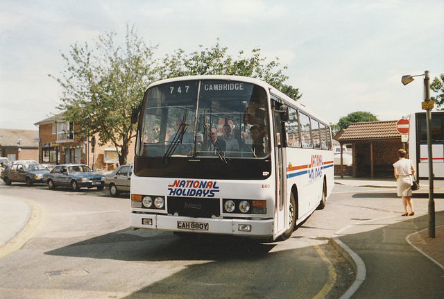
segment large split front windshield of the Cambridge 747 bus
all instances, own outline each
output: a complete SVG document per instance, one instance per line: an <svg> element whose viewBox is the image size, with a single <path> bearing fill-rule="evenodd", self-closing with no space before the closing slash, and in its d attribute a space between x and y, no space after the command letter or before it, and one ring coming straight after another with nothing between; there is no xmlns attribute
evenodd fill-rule
<svg viewBox="0 0 444 299"><path fill-rule="evenodd" d="M187 80L148 89L139 157L258 159L270 153L263 87L228 80Z"/></svg>

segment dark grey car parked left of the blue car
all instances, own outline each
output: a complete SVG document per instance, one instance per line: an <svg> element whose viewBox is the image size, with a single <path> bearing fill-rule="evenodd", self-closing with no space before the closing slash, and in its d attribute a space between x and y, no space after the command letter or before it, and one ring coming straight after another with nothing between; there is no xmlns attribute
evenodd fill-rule
<svg viewBox="0 0 444 299"><path fill-rule="evenodd" d="M8 169L1 171L1 179L6 185L11 185L12 182L26 182L26 185L32 186L35 182L44 182L45 173L49 173L49 170L37 162L14 161Z"/></svg>

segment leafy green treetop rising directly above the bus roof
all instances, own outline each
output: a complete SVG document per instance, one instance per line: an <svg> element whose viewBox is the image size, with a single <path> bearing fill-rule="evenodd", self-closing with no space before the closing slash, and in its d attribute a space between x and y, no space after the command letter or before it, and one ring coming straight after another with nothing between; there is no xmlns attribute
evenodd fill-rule
<svg viewBox="0 0 444 299"><path fill-rule="evenodd" d="M302 96L298 88L284 84L289 78L284 75L287 67L281 69L278 58L276 61L267 62L267 58L262 57L260 49L253 49L250 57L246 57L244 51L239 51L239 56L233 58L228 55L228 48L220 46L219 42L211 48L203 49L202 45L199 48L200 51L189 54L178 49L173 55L165 55L157 69L160 78L192 75L247 76L266 81L295 101Z"/></svg>

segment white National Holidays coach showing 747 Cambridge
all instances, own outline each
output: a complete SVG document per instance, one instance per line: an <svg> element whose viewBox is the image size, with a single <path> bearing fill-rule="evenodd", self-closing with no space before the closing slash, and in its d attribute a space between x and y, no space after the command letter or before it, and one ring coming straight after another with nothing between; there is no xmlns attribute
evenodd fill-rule
<svg viewBox="0 0 444 299"><path fill-rule="evenodd" d="M131 228L287 239L333 186L330 126L262 80L188 76L148 86Z"/></svg>

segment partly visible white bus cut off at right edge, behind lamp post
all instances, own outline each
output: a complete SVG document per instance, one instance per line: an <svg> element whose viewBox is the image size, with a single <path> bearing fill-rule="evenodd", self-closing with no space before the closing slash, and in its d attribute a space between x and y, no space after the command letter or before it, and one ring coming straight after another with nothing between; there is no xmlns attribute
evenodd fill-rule
<svg viewBox="0 0 444 299"><path fill-rule="evenodd" d="M416 168L417 179L429 180L426 113L412 113L407 118L410 119L409 159ZM444 111L432 112L432 161L434 186L444 187Z"/></svg>

